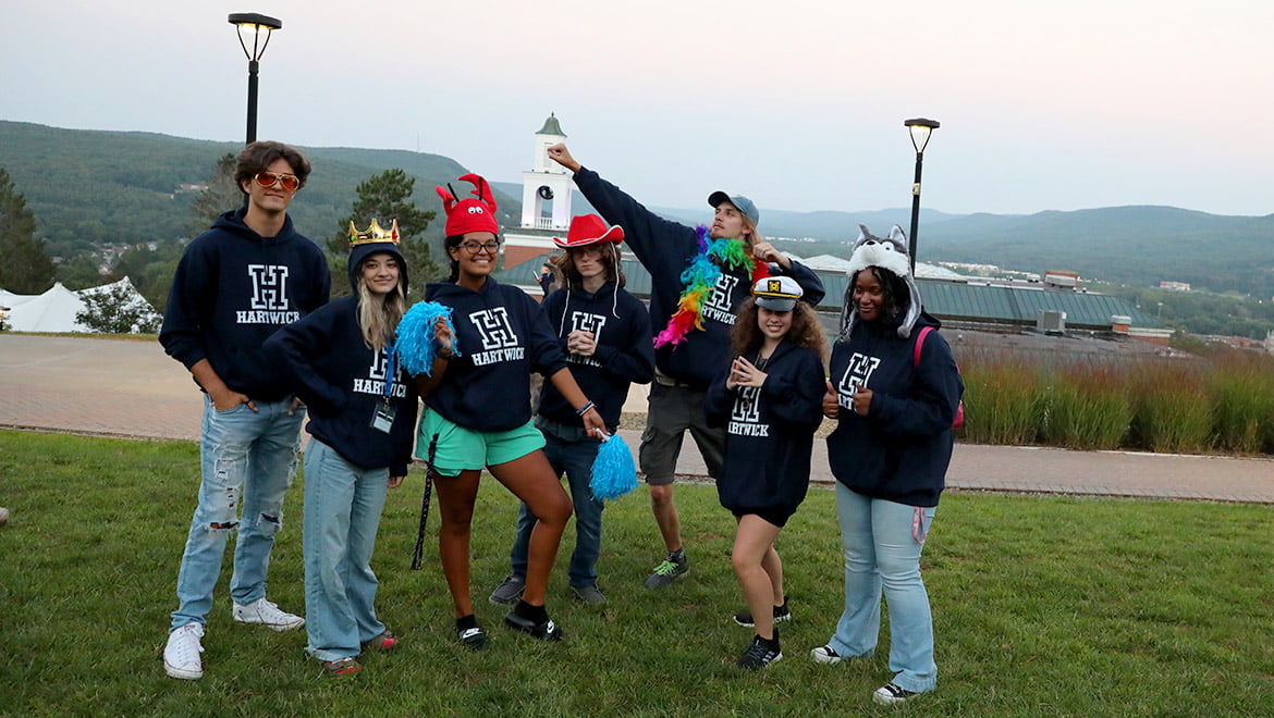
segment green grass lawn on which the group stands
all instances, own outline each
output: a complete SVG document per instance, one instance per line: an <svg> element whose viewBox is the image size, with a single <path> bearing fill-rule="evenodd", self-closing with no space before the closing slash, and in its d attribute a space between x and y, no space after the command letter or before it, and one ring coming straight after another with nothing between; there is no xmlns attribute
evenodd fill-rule
<svg viewBox="0 0 1274 718"><path fill-rule="evenodd" d="M958 449L957 449L958 451ZM32 715L1270 715L1274 518L1269 507L948 494L925 550L938 691L887 709L888 629L870 661L820 666L842 605L831 491L813 490L780 538L795 619L784 661L734 667L750 633L711 486L678 489L691 574L641 587L662 550L645 489L609 505L604 609L566 598L567 532L549 589L566 640L501 625L485 601L508 570L516 504L484 481L473 577L490 640L452 635L431 517L408 570L423 472L392 491L375 568L400 649L352 680L320 676L303 631L229 617L227 561L204 638L205 675L161 653L197 485L190 443L0 432L0 713ZM270 598L303 610L301 480L274 551Z"/></svg>

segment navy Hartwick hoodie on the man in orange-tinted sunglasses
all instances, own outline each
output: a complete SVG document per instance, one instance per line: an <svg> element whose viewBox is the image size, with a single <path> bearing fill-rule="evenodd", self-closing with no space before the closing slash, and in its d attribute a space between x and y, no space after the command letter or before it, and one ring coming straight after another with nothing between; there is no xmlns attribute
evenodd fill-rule
<svg viewBox="0 0 1274 718"><path fill-rule="evenodd" d="M287 218L276 237L243 224L238 209L186 247L172 278L159 342L191 368L208 359L232 391L259 401L290 393L261 345L327 303L327 260Z"/></svg>

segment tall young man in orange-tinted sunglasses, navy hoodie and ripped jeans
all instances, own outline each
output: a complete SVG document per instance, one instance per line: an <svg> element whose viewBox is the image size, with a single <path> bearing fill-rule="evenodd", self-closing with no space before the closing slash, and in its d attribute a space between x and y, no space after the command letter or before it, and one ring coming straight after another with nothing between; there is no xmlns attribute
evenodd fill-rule
<svg viewBox="0 0 1274 718"><path fill-rule="evenodd" d="M177 574L180 606L164 648L164 671L175 679L204 675L200 639L233 530L233 619L274 630L304 624L265 597L304 410L261 345L327 303L327 261L292 228L287 213L308 176L310 163L296 149L250 144L234 169L247 202L191 241L168 294L159 342L205 395L203 481Z"/></svg>

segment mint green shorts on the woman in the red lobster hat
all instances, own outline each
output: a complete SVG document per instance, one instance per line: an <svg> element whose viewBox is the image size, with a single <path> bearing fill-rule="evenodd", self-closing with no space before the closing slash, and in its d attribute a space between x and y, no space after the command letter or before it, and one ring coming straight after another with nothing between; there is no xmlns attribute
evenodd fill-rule
<svg viewBox="0 0 1274 718"><path fill-rule="evenodd" d="M417 428L417 458L429 460L429 443L434 434L438 437L438 447L433 456L433 468L443 476L496 466L544 448L544 434L531 421L507 432L475 432L426 407Z"/></svg>

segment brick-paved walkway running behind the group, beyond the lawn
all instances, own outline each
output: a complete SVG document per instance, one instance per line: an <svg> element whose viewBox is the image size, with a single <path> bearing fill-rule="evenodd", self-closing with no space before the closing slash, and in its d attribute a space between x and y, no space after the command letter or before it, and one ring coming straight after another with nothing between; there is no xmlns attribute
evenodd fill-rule
<svg viewBox="0 0 1274 718"><path fill-rule="evenodd" d="M190 374L155 341L0 335L0 426L194 440L200 412ZM622 434L636 451L638 433ZM832 482L823 442L813 466ZM707 474L689 439L678 472ZM1274 460L957 444L947 485L1274 504Z"/></svg>

